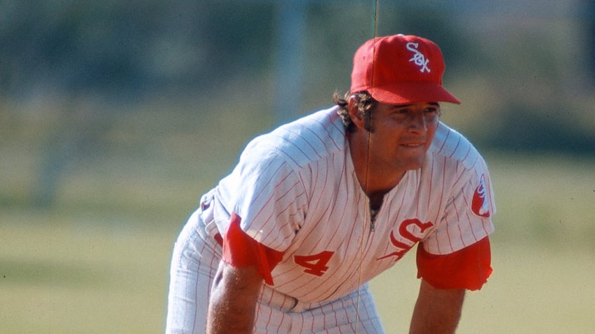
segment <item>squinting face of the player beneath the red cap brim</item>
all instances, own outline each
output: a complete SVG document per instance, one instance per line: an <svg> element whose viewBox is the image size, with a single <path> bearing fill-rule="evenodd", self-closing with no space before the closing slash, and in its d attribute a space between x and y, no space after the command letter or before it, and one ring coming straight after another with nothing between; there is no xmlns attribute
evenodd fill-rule
<svg viewBox="0 0 595 334"><path fill-rule="evenodd" d="M387 172L422 167L438 127L439 113L440 105L436 102L377 102L370 121L370 162Z"/></svg>

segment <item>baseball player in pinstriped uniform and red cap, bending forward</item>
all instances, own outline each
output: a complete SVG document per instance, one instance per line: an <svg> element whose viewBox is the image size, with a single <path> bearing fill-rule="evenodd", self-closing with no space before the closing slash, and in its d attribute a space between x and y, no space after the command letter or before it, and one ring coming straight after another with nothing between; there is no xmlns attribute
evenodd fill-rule
<svg viewBox="0 0 595 334"><path fill-rule="evenodd" d="M410 333L453 333L492 272L495 205L439 120L460 104L444 69L432 41L371 39L335 106L250 141L178 237L166 332L384 333L366 282L417 245Z"/></svg>

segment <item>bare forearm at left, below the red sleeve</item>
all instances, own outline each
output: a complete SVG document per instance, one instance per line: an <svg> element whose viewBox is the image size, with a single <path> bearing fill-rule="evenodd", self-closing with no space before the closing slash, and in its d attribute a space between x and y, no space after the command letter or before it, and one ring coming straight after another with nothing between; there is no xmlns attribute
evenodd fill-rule
<svg viewBox="0 0 595 334"><path fill-rule="evenodd" d="M206 333L252 333L261 285L256 267L232 267L221 261L210 295Z"/></svg>

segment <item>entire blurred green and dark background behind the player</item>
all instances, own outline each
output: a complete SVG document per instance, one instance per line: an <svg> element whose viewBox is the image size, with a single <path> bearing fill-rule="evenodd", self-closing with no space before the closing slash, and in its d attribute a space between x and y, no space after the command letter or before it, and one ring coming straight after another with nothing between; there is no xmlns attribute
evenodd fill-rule
<svg viewBox="0 0 595 334"><path fill-rule="evenodd" d="M595 333L595 1L0 1L0 331L162 333L171 249L246 142L330 106L361 43L441 46L490 166L458 333ZM404 333L406 256L372 282Z"/></svg>

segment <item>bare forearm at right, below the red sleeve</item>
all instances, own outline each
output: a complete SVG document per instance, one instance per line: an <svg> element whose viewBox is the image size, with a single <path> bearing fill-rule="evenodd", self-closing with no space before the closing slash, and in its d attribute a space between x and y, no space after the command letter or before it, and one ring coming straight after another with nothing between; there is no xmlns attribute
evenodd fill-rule
<svg viewBox="0 0 595 334"><path fill-rule="evenodd" d="M464 289L434 288L422 279L409 333L455 333L461 317L464 292Z"/></svg>

